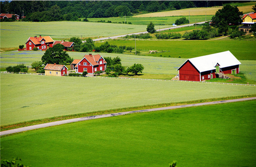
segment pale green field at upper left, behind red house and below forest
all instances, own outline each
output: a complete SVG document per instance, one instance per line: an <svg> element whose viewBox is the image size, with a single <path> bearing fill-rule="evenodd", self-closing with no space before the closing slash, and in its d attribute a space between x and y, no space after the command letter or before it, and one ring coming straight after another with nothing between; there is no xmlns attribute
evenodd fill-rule
<svg viewBox="0 0 256 167"><path fill-rule="evenodd" d="M56 39L115 36L145 31L147 25L110 24L96 22L1 22L1 49L19 47L30 36L51 36ZM166 26L161 26L166 27ZM93 30L93 31L92 31Z"/></svg>

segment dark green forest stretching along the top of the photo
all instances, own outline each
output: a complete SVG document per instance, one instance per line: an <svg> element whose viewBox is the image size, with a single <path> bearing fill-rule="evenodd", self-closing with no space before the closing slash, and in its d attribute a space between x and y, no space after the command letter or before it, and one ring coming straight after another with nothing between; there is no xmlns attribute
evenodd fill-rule
<svg viewBox="0 0 256 167"><path fill-rule="evenodd" d="M231 1L224 1L230 3ZM24 21L77 21L148 12L222 5L223 1L1 1L1 13L26 16Z"/></svg>

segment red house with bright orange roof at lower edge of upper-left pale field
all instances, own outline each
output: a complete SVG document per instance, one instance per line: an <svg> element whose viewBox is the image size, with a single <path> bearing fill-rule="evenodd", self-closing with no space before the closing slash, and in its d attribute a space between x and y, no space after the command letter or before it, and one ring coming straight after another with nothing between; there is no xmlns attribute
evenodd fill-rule
<svg viewBox="0 0 256 167"><path fill-rule="evenodd" d="M54 40L50 36L34 36L29 37L26 41L26 50L31 51L34 47L44 51L47 50L49 47L53 47Z"/></svg>

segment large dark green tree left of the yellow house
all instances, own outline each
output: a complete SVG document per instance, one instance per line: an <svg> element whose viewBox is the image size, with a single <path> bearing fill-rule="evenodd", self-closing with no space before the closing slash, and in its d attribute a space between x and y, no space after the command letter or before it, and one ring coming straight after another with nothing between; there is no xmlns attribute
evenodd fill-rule
<svg viewBox="0 0 256 167"><path fill-rule="evenodd" d="M223 21L227 24L238 25L241 22L242 11L239 11L237 6L225 5L222 9L219 9L215 16L211 18L212 25L219 27ZM221 22L222 21L222 22Z"/></svg>

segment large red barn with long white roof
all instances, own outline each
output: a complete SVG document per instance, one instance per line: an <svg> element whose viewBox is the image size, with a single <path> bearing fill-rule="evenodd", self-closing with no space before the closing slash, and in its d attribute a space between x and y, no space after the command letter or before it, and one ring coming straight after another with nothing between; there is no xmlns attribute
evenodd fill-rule
<svg viewBox="0 0 256 167"><path fill-rule="evenodd" d="M216 78L216 73L237 74L241 62L230 51L189 58L177 70L179 80L202 81Z"/></svg>

